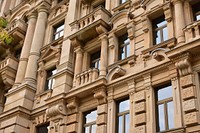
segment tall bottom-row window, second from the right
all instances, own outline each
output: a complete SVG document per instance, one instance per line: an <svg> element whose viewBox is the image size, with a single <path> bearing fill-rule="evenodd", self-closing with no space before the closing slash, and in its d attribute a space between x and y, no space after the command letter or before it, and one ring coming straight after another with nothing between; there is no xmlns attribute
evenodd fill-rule
<svg viewBox="0 0 200 133"><path fill-rule="evenodd" d="M117 133L129 133L130 127L129 99L117 103Z"/></svg>

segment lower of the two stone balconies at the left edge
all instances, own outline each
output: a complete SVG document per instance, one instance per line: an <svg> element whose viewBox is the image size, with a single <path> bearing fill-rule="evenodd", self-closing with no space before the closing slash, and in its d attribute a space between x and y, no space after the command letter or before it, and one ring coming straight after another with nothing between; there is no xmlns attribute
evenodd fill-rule
<svg viewBox="0 0 200 133"><path fill-rule="evenodd" d="M0 76L7 87L14 84L18 68L18 60L15 57L7 57L0 62Z"/></svg>

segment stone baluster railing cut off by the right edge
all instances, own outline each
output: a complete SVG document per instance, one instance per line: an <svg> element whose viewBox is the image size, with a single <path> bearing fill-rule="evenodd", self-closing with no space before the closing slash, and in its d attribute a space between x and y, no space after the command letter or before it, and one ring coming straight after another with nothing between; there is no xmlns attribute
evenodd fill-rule
<svg viewBox="0 0 200 133"><path fill-rule="evenodd" d="M200 38L200 21L196 21L184 29L186 42L190 42Z"/></svg>

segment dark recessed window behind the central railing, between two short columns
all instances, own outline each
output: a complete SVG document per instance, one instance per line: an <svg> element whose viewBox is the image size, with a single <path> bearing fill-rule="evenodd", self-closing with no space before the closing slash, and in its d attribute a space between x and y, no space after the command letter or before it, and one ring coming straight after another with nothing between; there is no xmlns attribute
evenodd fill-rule
<svg viewBox="0 0 200 133"><path fill-rule="evenodd" d="M91 58L90 58L90 67L91 68L100 69L100 55L101 55L101 51L91 54Z"/></svg>

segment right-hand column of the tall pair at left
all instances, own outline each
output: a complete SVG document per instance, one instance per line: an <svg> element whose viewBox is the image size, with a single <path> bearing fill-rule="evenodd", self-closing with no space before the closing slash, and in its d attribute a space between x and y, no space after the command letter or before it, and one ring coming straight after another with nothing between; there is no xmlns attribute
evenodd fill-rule
<svg viewBox="0 0 200 133"><path fill-rule="evenodd" d="M47 12L48 10L46 6L42 5L38 8L38 20L36 23L33 43L25 74L25 81L32 82L34 85L36 84L37 60L39 59L40 49L43 45L43 40L45 36Z"/></svg>

